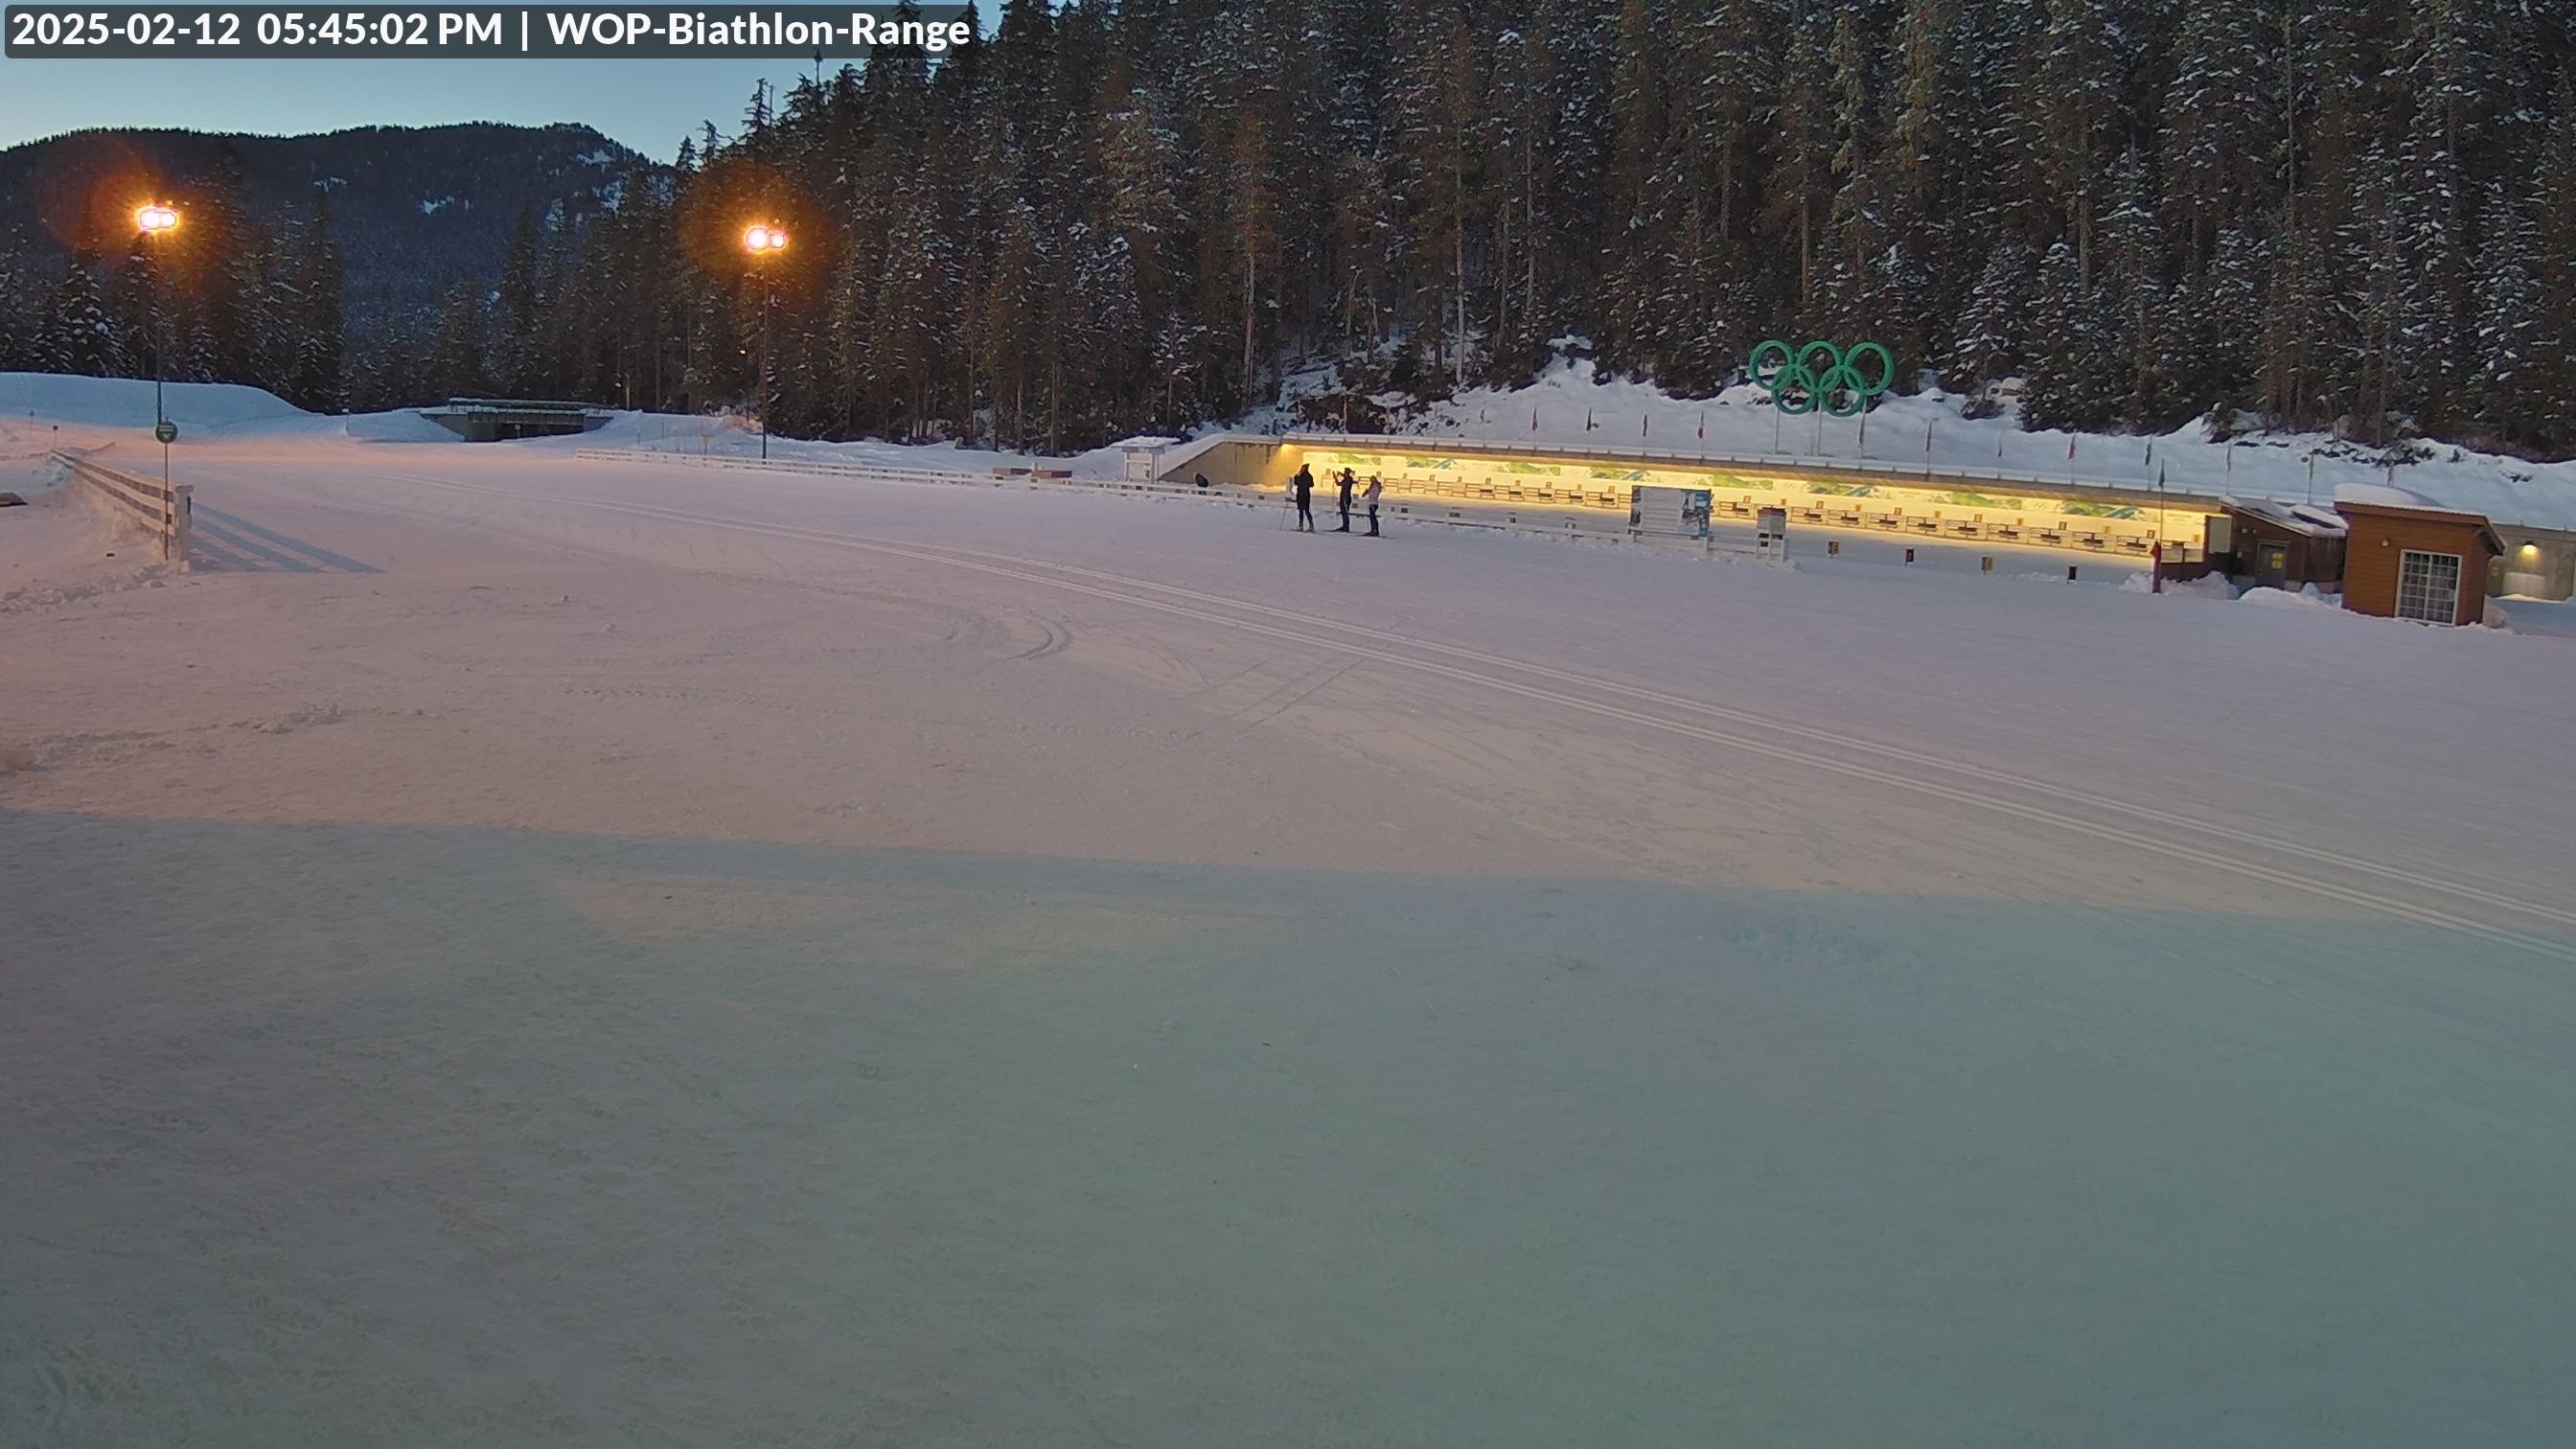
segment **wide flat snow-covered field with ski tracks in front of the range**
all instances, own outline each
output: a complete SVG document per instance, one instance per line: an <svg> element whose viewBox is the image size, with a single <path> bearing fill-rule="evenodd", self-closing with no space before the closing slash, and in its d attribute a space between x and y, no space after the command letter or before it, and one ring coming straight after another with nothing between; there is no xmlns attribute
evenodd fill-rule
<svg viewBox="0 0 2576 1449"><path fill-rule="evenodd" d="M0 1444L2576 1418L2571 639L173 413L0 511Z"/></svg>

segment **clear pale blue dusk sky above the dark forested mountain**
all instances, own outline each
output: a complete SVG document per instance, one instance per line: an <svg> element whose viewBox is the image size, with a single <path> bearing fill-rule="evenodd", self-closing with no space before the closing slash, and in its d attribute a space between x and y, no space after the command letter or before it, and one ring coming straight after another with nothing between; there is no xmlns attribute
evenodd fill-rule
<svg viewBox="0 0 2576 1449"><path fill-rule="evenodd" d="M840 62L827 62L840 64ZM670 160L732 134L786 59L0 59L0 147L90 126L301 134L446 121L580 121Z"/></svg>

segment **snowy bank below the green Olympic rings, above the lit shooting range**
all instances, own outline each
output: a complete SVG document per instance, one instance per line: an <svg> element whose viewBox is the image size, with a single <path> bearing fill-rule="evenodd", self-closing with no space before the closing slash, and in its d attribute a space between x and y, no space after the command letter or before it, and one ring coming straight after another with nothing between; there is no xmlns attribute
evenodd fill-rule
<svg viewBox="0 0 2576 1449"><path fill-rule="evenodd" d="M1388 400L1394 402L1394 400ZM2324 433L2241 433L2233 446L2195 420L2156 438L2022 431L2014 410L1965 418L1947 392L1883 397L1868 425L1857 418L1783 418L1752 384L1716 397L1674 397L1651 382L1605 379L1592 361L1548 369L1530 387L1471 389L1396 423L1404 433L1543 443L1551 449L1643 449L1708 459L1795 459L1932 467L1945 474L2002 474L2017 482L2107 482L2177 492L2293 498L2329 503L2357 482L2398 485L2496 523L2576 529L2576 462L2532 464L2468 449L2432 449L2393 469L2378 449ZM1285 428L1280 410L1247 418ZM2311 477L2313 459L2313 477Z"/></svg>

